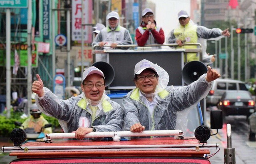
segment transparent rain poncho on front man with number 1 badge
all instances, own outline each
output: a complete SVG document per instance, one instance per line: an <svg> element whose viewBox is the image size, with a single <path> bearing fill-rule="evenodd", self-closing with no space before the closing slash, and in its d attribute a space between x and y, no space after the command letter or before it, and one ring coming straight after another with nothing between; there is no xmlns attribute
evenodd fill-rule
<svg viewBox="0 0 256 164"><path fill-rule="evenodd" d="M96 132L120 131L122 129L123 115L121 106L110 100L104 93L102 99L97 104L98 110L92 120L92 110L90 99L86 99L82 94L62 100L44 87L44 96L36 95L36 104L46 115L58 119L64 132L76 131L79 127L96 129Z"/></svg>

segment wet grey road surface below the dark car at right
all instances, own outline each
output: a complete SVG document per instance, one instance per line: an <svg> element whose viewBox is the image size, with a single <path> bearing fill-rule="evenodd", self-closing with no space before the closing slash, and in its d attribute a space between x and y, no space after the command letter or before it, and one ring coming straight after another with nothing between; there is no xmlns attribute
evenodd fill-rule
<svg viewBox="0 0 256 164"><path fill-rule="evenodd" d="M246 116L228 116L226 117L226 121L228 124L231 124L232 148L235 148L236 151L236 164L255 164L256 142L248 141L249 127L246 122ZM209 125L210 121L207 122ZM223 128L219 130L219 134L211 136L208 143L220 144L220 151L215 156L211 157L210 161L213 164L224 164L224 148L226 148L226 124L223 124Z"/></svg>

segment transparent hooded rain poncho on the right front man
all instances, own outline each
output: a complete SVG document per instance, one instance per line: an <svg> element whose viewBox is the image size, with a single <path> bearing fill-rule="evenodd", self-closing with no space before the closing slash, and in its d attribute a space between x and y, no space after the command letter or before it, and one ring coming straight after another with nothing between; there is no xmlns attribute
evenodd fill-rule
<svg viewBox="0 0 256 164"><path fill-rule="evenodd" d="M130 130L133 124L140 122L145 130L187 130L187 114L191 108L204 98L212 86L203 74L188 86L167 86L169 76L160 66L156 66L159 75L158 86L154 94L144 94L134 88L123 98L124 127ZM167 86L167 87L166 87ZM154 110L150 112L147 96L153 97Z"/></svg>

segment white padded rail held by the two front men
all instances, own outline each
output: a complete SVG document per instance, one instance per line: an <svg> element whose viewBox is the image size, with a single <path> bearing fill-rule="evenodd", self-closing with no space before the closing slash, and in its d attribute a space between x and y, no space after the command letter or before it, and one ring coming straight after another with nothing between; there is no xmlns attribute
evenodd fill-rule
<svg viewBox="0 0 256 164"><path fill-rule="evenodd" d="M142 136L183 136L182 130L145 130L143 132L90 132L84 135L84 138L103 138L113 137L115 141L120 140L120 137L142 137ZM50 133L46 135L46 139L59 138L76 138L75 133Z"/></svg>

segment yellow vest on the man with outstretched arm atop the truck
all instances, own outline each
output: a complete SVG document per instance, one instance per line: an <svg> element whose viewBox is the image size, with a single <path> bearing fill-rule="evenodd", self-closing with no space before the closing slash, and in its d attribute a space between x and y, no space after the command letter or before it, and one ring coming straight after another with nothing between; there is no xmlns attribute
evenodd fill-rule
<svg viewBox="0 0 256 164"><path fill-rule="evenodd" d="M197 43L198 36L196 34L197 26L188 22L185 26L179 26L178 28L174 29L174 36L176 39L186 40L185 43ZM189 45L189 46L177 46L177 48L184 48L184 49L196 49L196 45ZM185 57L184 57L185 59ZM199 60L199 56L196 56L196 53L187 53L187 62Z"/></svg>

